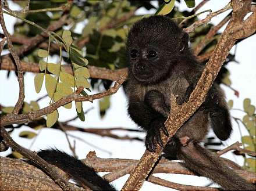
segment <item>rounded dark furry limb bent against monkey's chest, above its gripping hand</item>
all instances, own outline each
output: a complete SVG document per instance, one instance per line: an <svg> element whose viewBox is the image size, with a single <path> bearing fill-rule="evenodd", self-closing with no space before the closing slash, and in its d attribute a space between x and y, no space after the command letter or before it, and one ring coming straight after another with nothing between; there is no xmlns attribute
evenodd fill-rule
<svg viewBox="0 0 256 191"><path fill-rule="evenodd" d="M145 103L148 104L153 110L161 113L163 117L168 117L170 108L165 104L165 97L157 90L147 92L144 98Z"/></svg>

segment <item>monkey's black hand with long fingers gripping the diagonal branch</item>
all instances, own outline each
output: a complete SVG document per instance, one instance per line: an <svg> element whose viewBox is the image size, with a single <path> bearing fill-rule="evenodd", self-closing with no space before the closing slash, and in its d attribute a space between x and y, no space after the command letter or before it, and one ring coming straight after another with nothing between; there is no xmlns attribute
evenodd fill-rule
<svg viewBox="0 0 256 191"><path fill-rule="evenodd" d="M156 118L150 124L150 129L148 129L147 131L147 136L145 140L145 146L150 152L155 152L155 146L157 144L163 147L160 129L166 136L169 135L164 122L165 121L163 118Z"/></svg>

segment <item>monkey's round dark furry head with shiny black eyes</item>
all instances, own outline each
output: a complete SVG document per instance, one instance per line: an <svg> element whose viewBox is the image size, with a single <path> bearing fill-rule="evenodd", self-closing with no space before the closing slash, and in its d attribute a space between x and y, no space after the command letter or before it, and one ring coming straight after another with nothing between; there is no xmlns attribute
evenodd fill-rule
<svg viewBox="0 0 256 191"><path fill-rule="evenodd" d="M155 84L171 74L178 60L189 52L186 33L165 16L137 21L127 37L129 73L142 84Z"/></svg>

